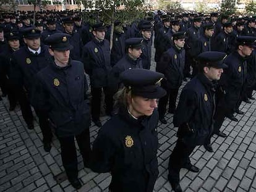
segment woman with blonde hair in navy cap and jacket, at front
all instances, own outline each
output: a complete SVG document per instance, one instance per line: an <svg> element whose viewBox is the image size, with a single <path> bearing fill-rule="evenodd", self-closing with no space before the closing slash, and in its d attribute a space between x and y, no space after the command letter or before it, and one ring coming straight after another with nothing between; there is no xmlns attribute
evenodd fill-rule
<svg viewBox="0 0 256 192"><path fill-rule="evenodd" d="M163 77L146 69L121 73L119 110L99 131L91 165L95 172L111 172L111 192L153 191L158 177L156 98L166 94L157 82Z"/></svg>

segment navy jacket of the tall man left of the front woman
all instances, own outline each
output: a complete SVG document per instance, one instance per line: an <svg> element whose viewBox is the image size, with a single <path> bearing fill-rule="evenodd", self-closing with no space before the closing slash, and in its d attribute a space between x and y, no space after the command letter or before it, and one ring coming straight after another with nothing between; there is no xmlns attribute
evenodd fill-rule
<svg viewBox="0 0 256 192"><path fill-rule="evenodd" d="M83 64L69 61L58 67L52 60L36 75L33 101L49 114L59 137L78 135L90 127L90 110Z"/></svg>

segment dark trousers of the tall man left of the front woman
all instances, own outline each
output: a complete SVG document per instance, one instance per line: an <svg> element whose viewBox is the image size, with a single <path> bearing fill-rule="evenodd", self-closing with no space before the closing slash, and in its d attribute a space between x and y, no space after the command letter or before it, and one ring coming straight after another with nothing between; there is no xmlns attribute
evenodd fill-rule
<svg viewBox="0 0 256 192"><path fill-rule="evenodd" d="M88 128L79 135L59 138L62 164L70 182L75 180L78 176L77 149L75 148L74 138L77 140L80 153L83 157L83 162L90 162L92 152L90 148L90 130Z"/></svg>

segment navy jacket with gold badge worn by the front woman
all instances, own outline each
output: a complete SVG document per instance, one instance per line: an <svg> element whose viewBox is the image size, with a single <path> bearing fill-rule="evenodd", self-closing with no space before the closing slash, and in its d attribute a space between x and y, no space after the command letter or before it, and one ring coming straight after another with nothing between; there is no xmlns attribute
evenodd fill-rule
<svg viewBox="0 0 256 192"><path fill-rule="evenodd" d="M122 109L93 143L94 172L111 172L112 192L151 192L158 177L158 112L135 120Z"/></svg>

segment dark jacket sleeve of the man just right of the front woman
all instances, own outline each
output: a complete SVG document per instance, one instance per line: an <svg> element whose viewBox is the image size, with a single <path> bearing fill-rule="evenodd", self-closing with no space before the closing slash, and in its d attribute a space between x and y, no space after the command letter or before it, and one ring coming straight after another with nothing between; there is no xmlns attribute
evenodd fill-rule
<svg viewBox="0 0 256 192"><path fill-rule="evenodd" d="M180 127L184 123L189 123L196 108L197 95L195 92L192 90L182 90L177 111L173 117L174 127Z"/></svg>

